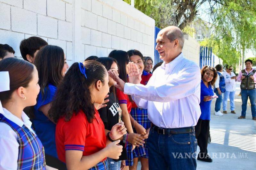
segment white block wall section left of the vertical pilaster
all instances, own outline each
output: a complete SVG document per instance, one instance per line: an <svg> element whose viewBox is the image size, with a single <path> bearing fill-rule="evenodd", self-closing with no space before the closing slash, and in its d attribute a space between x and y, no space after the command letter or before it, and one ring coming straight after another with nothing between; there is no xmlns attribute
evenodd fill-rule
<svg viewBox="0 0 256 170"><path fill-rule="evenodd" d="M21 40L38 36L72 61L72 0L0 0L0 11L0 43L12 46L15 56L21 58Z"/></svg>

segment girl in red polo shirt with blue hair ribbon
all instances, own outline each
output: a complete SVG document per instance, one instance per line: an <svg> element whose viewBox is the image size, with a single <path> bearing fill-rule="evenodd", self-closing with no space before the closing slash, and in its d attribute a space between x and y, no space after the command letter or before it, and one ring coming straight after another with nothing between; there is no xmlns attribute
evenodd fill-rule
<svg viewBox="0 0 256 170"><path fill-rule="evenodd" d="M107 169L106 158L121 155L116 139L126 134L124 123L114 125L106 137L97 111L108 91L108 72L96 61L72 64L60 83L49 116L57 122L58 158L67 169Z"/></svg>

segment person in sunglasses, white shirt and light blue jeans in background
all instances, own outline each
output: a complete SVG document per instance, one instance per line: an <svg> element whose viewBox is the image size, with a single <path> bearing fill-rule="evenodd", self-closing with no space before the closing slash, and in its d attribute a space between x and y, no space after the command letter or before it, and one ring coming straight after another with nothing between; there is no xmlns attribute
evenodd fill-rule
<svg viewBox="0 0 256 170"><path fill-rule="evenodd" d="M224 92L224 97L222 101L223 105L223 113L227 114L227 103L228 103L228 97L230 100L230 110L231 113L236 114L235 112L235 93L236 93L236 75L234 72L232 72L233 67L232 66L226 66L226 71L223 72L223 77L225 78L226 83L226 92Z"/></svg>

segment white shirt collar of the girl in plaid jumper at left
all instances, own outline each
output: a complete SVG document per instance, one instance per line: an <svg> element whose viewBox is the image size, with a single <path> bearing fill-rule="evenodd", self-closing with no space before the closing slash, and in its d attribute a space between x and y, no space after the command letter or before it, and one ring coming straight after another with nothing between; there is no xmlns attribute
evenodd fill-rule
<svg viewBox="0 0 256 170"><path fill-rule="evenodd" d="M32 122L30 122L29 117L25 114L25 112L22 111L21 114L21 118L22 120L20 120L17 116L13 115L9 110L7 110L6 108L3 108L4 113L2 113L4 115L4 117L6 117L7 119L9 119L10 121L16 123L17 125L19 125L20 127L22 127L23 125L27 126L28 128L31 128Z"/></svg>

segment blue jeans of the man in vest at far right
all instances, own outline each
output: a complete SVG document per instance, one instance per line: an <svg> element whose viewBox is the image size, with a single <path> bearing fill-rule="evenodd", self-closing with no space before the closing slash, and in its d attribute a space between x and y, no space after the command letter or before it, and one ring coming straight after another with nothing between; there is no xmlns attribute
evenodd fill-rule
<svg viewBox="0 0 256 170"><path fill-rule="evenodd" d="M241 89L241 97L242 97L242 113L241 116L246 115L246 107L247 107L247 100L248 97L251 103L251 110L252 110L252 117L256 117L256 105L255 105L255 98L256 98L256 89L246 90Z"/></svg>

